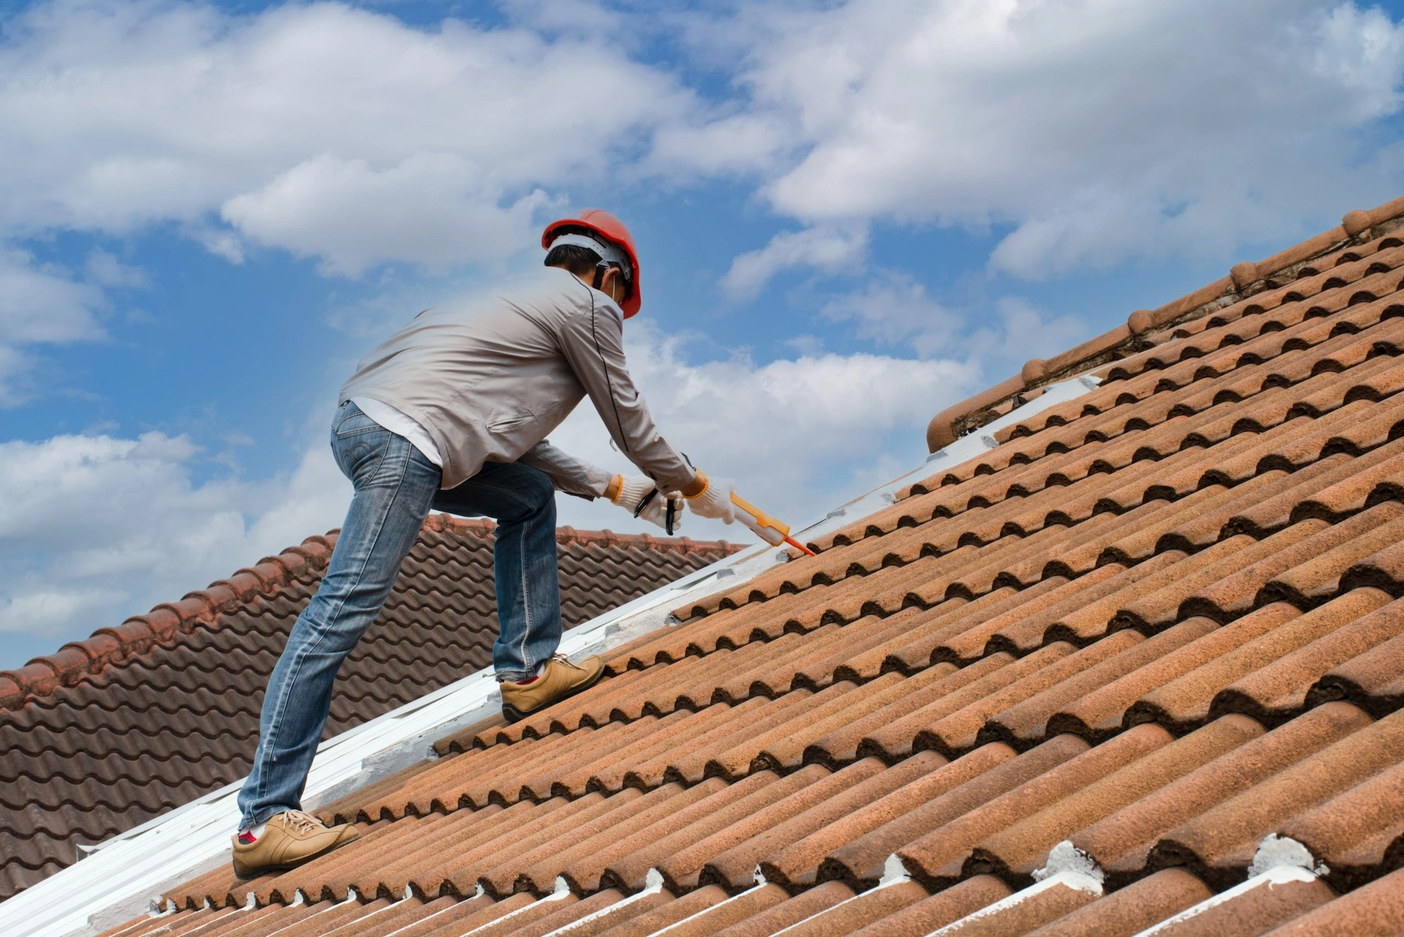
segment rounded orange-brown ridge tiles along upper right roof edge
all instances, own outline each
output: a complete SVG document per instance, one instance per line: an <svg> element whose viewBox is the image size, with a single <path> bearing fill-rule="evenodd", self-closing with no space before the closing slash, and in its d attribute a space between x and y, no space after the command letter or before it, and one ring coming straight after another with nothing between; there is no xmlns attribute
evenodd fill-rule
<svg viewBox="0 0 1404 937"><path fill-rule="evenodd" d="M1007 378L934 416L927 426L927 448L935 452L955 443L962 435L1002 416L1005 407L1001 405L1009 403L1008 409L1012 409L1026 403L1042 393L1042 388L1054 381L1071 378L1116 360L1118 351L1141 351L1151 347L1144 337L1151 332L1163 332L1170 326L1207 316L1257 292L1278 287L1280 284L1269 284L1268 280L1282 273L1294 273L1296 268L1309 261L1342 247L1384 237L1401 226L1404 226L1404 195L1370 211L1358 208L1348 211L1341 218L1341 223L1330 230L1279 250L1258 263L1243 260L1228 270L1227 277L1155 309L1137 309L1126 317L1126 325L1116 326L1095 339L1088 339L1052 358L1031 358L1012 378ZM1036 393L1025 395L1028 391Z"/></svg>

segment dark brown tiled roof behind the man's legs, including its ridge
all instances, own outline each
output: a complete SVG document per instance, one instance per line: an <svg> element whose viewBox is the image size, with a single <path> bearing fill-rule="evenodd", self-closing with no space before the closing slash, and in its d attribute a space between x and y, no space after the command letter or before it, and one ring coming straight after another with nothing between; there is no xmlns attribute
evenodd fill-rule
<svg viewBox="0 0 1404 937"><path fill-rule="evenodd" d="M491 663L493 524L434 516L337 676L324 738ZM588 621L736 548L562 528L562 614ZM241 778L268 674L336 531L18 673L0 709L0 898ZM121 641L121 643L119 643ZM18 690L18 687L24 687Z"/></svg>

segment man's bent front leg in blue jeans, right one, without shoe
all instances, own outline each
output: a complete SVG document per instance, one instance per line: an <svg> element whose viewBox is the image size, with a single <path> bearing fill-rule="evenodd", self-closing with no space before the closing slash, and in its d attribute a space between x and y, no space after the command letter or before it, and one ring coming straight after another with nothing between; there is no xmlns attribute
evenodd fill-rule
<svg viewBox="0 0 1404 937"><path fill-rule="evenodd" d="M434 507L497 521L493 579L500 632L493 670L503 681L536 676L560 646L556 489L550 479L529 465L487 462L458 487L439 492Z"/></svg>

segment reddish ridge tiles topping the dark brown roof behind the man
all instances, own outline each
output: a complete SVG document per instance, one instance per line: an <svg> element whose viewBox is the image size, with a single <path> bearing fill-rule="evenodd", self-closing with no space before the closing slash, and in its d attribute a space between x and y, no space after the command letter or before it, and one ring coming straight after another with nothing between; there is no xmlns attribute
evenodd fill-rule
<svg viewBox="0 0 1404 937"><path fill-rule="evenodd" d="M490 537L497 524L487 518L437 513L424 520L424 528ZM205 589L185 593L177 603L160 603L146 614L132 615L115 628L98 628L90 636L70 641L52 655L35 657L17 670L0 670L0 711L18 709L31 697L52 695L60 686L72 687L87 676L98 674L108 664L129 660L178 634L190 634L198 625L213 624L222 612L233 611L234 604L253 601L258 596L274 596L300 575L326 569L340 532L341 528L333 528L323 535L307 537L277 556L264 556L227 579L216 579ZM733 552L733 544L724 539L694 541L687 537L615 534L609 530L580 531L574 527L557 528L556 539L585 546L646 546L682 555Z"/></svg>

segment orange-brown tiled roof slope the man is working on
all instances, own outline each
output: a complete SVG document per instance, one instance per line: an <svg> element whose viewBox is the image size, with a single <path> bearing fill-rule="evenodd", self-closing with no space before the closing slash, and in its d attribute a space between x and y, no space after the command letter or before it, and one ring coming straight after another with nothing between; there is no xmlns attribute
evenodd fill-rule
<svg viewBox="0 0 1404 937"><path fill-rule="evenodd" d="M1400 933L1404 240L1299 273L110 933Z"/></svg>

